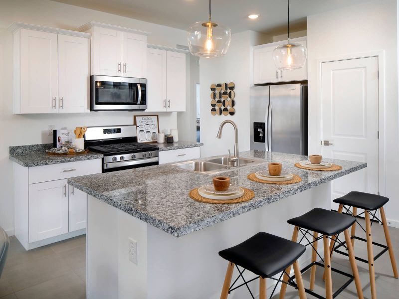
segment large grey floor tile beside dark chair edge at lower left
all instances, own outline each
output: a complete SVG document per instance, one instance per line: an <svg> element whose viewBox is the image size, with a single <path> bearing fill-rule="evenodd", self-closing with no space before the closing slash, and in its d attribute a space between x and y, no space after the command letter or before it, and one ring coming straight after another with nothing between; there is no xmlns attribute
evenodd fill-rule
<svg viewBox="0 0 399 299"><path fill-rule="evenodd" d="M14 292L62 276L71 268L56 254L28 261L10 268L6 278Z"/></svg>

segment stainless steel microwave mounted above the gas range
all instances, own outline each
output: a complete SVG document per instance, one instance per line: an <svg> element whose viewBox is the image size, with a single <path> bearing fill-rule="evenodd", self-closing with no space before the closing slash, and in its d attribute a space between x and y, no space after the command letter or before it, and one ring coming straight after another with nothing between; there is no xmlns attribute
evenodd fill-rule
<svg viewBox="0 0 399 299"><path fill-rule="evenodd" d="M147 79L91 76L90 111L147 109Z"/></svg>

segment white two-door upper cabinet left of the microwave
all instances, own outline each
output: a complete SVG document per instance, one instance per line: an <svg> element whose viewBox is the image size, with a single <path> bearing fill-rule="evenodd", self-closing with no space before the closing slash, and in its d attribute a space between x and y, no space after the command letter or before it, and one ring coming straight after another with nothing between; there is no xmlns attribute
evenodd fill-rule
<svg viewBox="0 0 399 299"><path fill-rule="evenodd" d="M13 23L14 113L89 109L90 34Z"/></svg>

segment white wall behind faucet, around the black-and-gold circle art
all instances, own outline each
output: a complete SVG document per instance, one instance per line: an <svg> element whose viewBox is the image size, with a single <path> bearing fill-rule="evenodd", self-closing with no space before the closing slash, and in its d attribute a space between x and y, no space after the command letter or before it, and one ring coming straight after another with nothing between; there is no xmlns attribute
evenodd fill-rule
<svg viewBox="0 0 399 299"><path fill-rule="evenodd" d="M272 37L254 31L235 33L227 54L221 58L200 58L200 141L201 156L227 154L234 150L234 130L227 124L221 139L216 138L219 125L230 119L238 127L239 150L249 150L249 87L252 82L251 47L272 42ZM210 114L210 85L235 83L235 115Z"/></svg>

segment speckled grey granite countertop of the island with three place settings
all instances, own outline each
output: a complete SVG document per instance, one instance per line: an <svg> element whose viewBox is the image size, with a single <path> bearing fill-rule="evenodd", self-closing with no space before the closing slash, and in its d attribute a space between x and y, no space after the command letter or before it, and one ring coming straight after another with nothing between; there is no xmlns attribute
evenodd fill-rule
<svg viewBox="0 0 399 299"><path fill-rule="evenodd" d="M265 159L265 163L282 162L284 170L301 176L302 181L289 185L253 182L247 179L247 175L265 169L265 164L243 166L223 173L232 180L238 180L240 186L254 191L255 197L242 203L220 205L200 203L189 197L191 189L211 183L212 176L172 168L168 164L80 176L68 179L68 184L181 237L367 166L362 162L324 159L341 165L343 169L314 171L294 166L307 156L251 150L241 152L240 157Z"/></svg>

